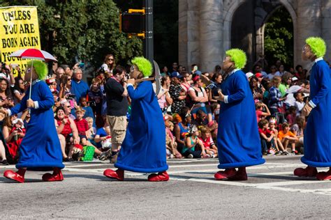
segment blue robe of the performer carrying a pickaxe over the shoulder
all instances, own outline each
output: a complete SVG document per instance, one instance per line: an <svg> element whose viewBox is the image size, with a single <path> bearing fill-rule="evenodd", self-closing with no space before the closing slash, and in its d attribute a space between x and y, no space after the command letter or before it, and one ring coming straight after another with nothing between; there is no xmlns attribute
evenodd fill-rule
<svg viewBox="0 0 331 220"><path fill-rule="evenodd" d="M152 83L128 86L128 95L131 117L115 167L141 173L166 171L165 125Z"/></svg>

